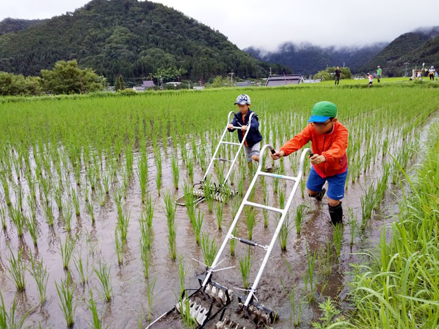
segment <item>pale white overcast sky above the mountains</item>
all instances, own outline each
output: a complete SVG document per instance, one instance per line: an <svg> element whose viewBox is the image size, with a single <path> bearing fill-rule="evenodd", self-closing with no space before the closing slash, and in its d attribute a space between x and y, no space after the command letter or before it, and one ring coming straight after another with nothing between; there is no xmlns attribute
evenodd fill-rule
<svg viewBox="0 0 439 329"><path fill-rule="evenodd" d="M0 0L0 19L47 19L87 0ZM367 45L439 25L438 0L160 0L228 36L241 49L285 41Z"/></svg>

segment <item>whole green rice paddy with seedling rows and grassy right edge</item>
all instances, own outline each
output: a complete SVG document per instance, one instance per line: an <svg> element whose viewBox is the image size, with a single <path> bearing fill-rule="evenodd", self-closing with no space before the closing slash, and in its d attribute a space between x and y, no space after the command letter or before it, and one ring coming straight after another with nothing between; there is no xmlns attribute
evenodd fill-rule
<svg viewBox="0 0 439 329"><path fill-rule="evenodd" d="M0 103L0 328L145 328L198 288L252 179L244 152L238 195L195 207L200 182L239 93L279 149L317 101L350 132L344 226L333 227L305 182L294 197L259 302L274 328L439 325L439 89L219 89ZM236 133L228 134L236 141ZM224 145L222 158L233 156ZM293 175L300 152L264 168ZM209 180L222 180L225 162ZM292 186L259 180L255 202L283 206ZM176 206L186 196L187 206ZM278 215L246 208L237 236L267 244ZM216 282L252 284L263 250L229 243ZM189 321L190 322L190 321ZM175 328L191 324L181 321ZM211 324L208 328L214 328Z"/></svg>

